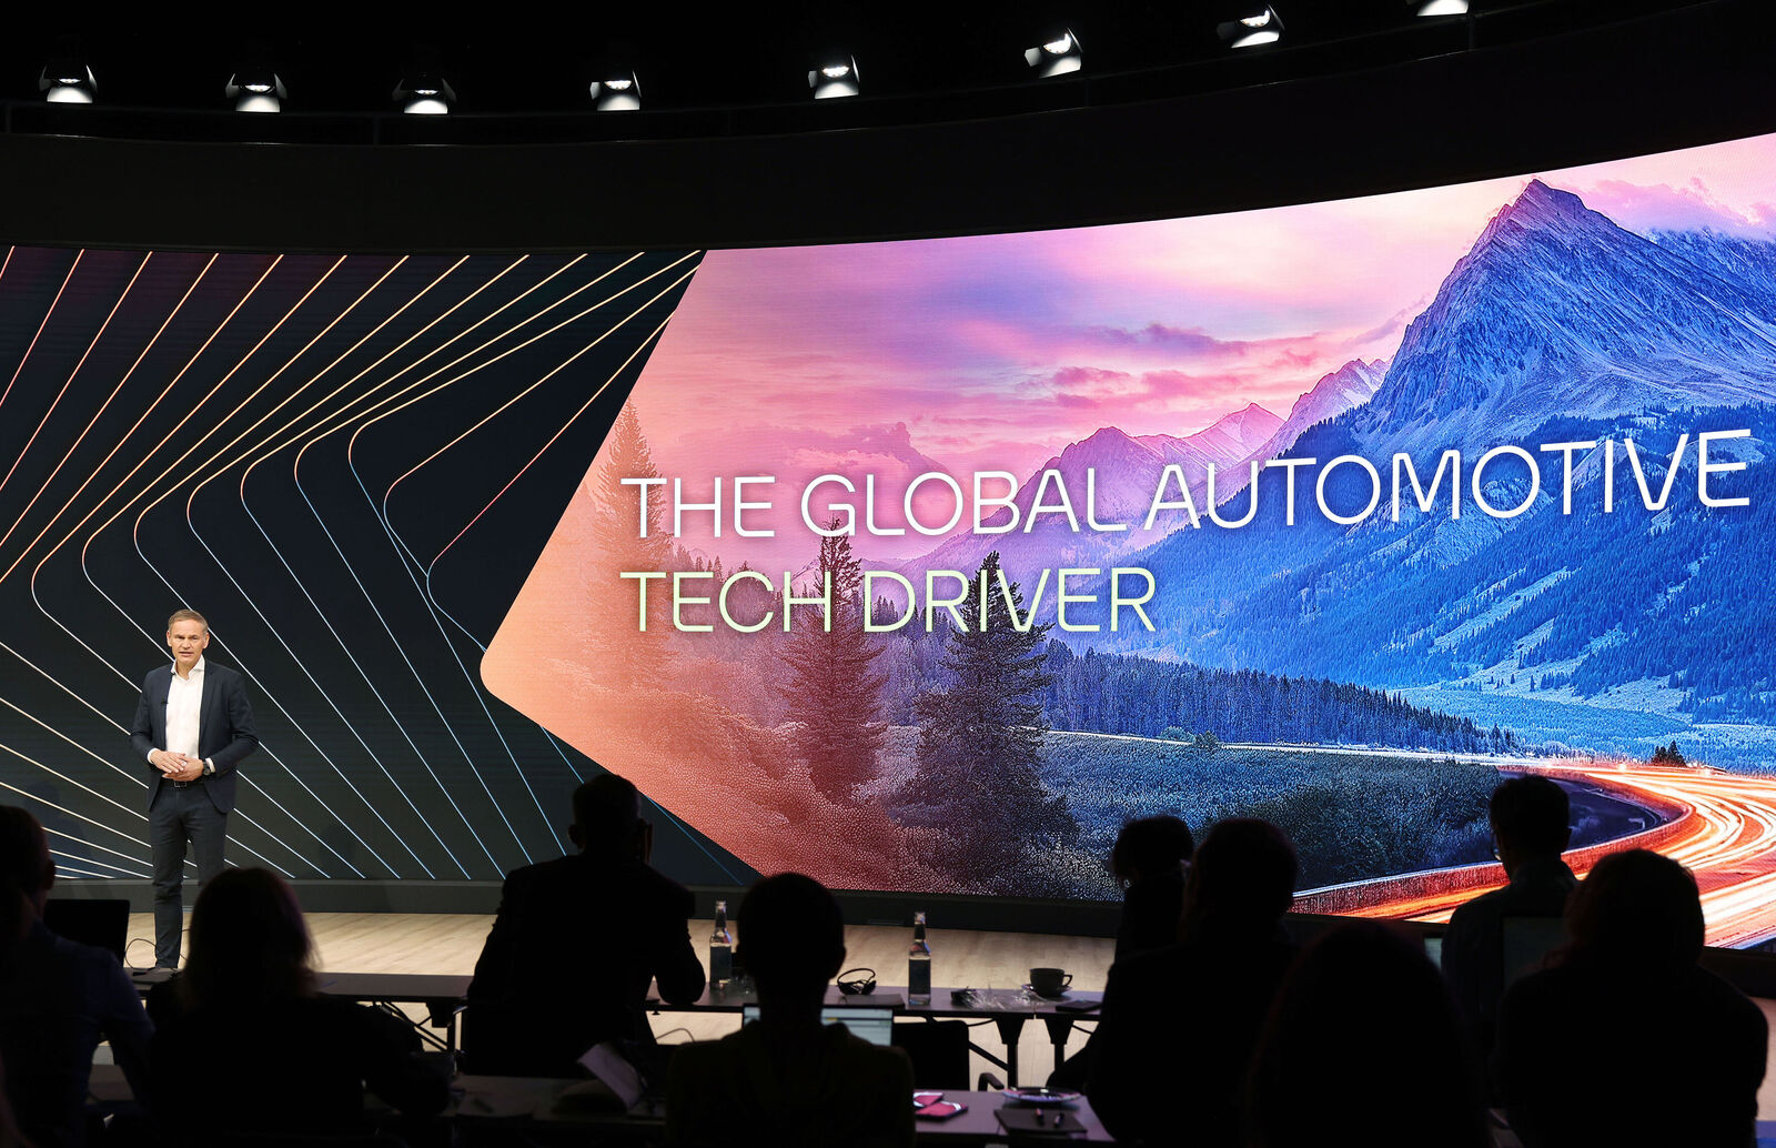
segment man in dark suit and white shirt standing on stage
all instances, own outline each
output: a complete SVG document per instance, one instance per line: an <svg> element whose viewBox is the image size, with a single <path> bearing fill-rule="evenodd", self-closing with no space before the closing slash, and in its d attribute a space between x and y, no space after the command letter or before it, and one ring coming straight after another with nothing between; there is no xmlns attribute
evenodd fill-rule
<svg viewBox="0 0 1776 1148"><path fill-rule="evenodd" d="M147 759L147 826L155 853L155 965L178 969L185 924L185 846L197 855L197 880L222 873L234 768L259 748L247 682L204 661L210 624L195 610L167 618L172 665L142 679L130 745Z"/></svg>

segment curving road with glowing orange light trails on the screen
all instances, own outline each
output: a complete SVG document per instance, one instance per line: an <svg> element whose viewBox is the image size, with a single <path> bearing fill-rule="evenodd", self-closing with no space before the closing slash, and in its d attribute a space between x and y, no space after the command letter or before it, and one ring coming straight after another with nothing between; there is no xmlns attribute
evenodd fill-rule
<svg viewBox="0 0 1776 1148"><path fill-rule="evenodd" d="M1529 768L1669 816L1650 830L1570 853L1579 876L1604 853L1653 848L1696 874L1710 945L1748 947L1776 938L1776 777L1639 764ZM1296 906L1447 921L1455 906L1502 883L1497 865L1437 869L1312 890Z"/></svg>

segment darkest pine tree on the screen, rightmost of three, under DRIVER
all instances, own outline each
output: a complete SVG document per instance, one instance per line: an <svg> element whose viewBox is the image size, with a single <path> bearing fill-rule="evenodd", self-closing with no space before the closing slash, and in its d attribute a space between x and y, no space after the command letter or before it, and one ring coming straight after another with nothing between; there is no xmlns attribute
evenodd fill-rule
<svg viewBox="0 0 1776 1148"><path fill-rule="evenodd" d="M986 627L980 592L987 586ZM1066 798L1050 798L1039 775L1043 736L1043 636L1050 626L1018 631L998 588L998 553L980 563L975 590L961 606L963 629L947 634L947 690L918 697L920 773L908 789L913 803L941 810L947 828L938 860L955 876L987 889L1005 883L1005 869L1028 851L1078 837ZM1023 594L1009 583L1023 617Z"/></svg>

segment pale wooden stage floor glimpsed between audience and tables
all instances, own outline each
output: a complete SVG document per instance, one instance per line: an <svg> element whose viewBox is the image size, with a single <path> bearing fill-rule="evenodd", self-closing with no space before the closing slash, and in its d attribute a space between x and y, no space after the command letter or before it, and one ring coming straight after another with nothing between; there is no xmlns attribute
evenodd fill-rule
<svg viewBox="0 0 1776 1148"><path fill-rule="evenodd" d="M471 974L481 954L481 942L494 919L483 913L309 913L314 933L316 965L332 972L442 972ZM190 917L186 915L186 922ZM707 938L714 922L693 921L691 940L707 963ZM968 929L931 929L932 983L950 988L1016 988L1030 977L1030 969L1048 965L1066 969L1080 988L1101 990L1110 970L1115 942L1108 937L1044 937L1039 933L982 933ZM131 965L153 963L155 917L130 915ZM883 985L906 983L906 949L911 928L849 926L845 969L868 967ZM661 1013L654 1031L662 1041L712 1040L739 1027L735 1015ZM1085 1020L1073 1036L1071 1050L1083 1045ZM973 1043L1003 1059L1003 1045L991 1022L973 1031ZM1041 1084L1053 1068L1053 1045L1039 1024L1025 1025L1018 1043L1019 1079ZM980 1072L1005 1073L975 1057L971 1077Z"/></svg>

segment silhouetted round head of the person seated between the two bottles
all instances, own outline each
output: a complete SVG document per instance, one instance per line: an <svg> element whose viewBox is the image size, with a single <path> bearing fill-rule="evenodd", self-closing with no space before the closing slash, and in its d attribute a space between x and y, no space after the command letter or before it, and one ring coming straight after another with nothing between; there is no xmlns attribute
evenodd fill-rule
<svg viewBox="0 0 1776 1148"><path fill-rule="evenodd" d="M819 1004L845 963L845 919L824 885L799 873L760 878L739 915L739 958L758 985L758 1004Z"/></svg>

